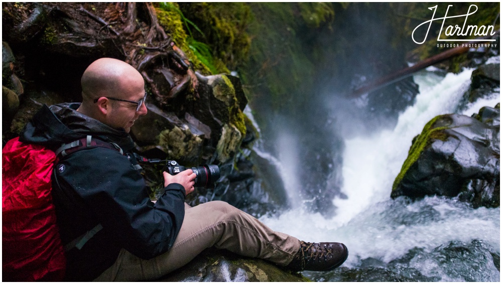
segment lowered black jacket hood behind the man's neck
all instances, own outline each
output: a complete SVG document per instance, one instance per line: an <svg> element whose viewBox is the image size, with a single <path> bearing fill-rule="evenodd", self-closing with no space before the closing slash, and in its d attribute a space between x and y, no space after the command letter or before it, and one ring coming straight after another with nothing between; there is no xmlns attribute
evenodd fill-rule
<svg viewBox="0 0 502 284"><path fill-rule="evenodd" d="M77 111L80 103L45 105L28 122L20 135L26 143L56 149L87 135L116 143L124 151L134 147L134 141L125 130L114 129Z"/></svg>

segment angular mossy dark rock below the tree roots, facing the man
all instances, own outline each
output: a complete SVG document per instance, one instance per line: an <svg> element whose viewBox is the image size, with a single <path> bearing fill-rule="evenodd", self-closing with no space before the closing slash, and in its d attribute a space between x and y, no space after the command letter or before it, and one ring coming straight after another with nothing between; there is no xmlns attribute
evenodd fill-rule
<svg viewBox="0 0 502 284"><path fill-rule="evenodd" d="M180 115L148 104L150 111L131 129L140 151L157 149L185 166L210 159L225 163L238 152L246 134L236 98L242 90L236 91L225 75L198 76L199 98L190 102L193 110Z"/></svg>

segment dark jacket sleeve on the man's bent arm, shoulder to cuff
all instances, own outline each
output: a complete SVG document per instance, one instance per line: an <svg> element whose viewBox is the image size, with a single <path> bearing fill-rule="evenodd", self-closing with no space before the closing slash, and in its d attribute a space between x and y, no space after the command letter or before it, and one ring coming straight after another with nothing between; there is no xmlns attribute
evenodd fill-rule
<svg viewBox="0 0 502 284"><path fill-rule="evenodd" d="M81 197L89 218L98 219L123 248L144 259L171 248L185 216L183 186L168 185L154 204L128 158L105 148L78 151L55 167L58 180Z"/></svg>

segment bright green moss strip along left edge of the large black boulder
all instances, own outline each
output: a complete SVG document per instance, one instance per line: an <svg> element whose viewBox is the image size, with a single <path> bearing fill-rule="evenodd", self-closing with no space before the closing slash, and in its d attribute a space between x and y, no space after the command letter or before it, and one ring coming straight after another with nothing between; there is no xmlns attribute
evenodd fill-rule
<svg viewBox="0 0 502 284"><path fill-rule="evenodd" d="M408 152L408 158L404 162L403 167L401 168L401 172L396 177L396 180L394 180L394 184L392 186L393 192L397 189L398 185L401 183L404 176L408 172L408 169L410 169L410 167L418 160L425 148L429 147L434 140L439 139L446 141L448 139L448 134L442 131L449 128L449 123L447 120L447 115L439 115L434 117L424 126L422 133L414 138L414 142L410 148L410 151Z"/></svg>

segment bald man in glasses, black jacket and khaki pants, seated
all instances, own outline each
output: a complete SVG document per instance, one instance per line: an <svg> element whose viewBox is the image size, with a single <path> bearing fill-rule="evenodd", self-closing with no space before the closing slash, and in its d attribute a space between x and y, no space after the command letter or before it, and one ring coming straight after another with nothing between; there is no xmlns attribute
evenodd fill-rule
<svg viewBox="0 0 502 284"><path fill-rule="evenodd" d="M154 280L208 247L295 271L329 270L347 258L341 243L300 241L225 202L188 206L192 170L164 172L164 193L153 203L129 135L148 111L143 77L123 61L101 58L84 71L81 84L82 103L44 106L20 135L58 154L52 195L66 280ZM78 144L86 147L72 151Z"/></svg>

